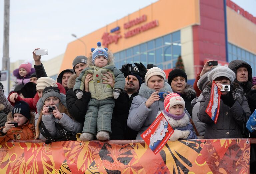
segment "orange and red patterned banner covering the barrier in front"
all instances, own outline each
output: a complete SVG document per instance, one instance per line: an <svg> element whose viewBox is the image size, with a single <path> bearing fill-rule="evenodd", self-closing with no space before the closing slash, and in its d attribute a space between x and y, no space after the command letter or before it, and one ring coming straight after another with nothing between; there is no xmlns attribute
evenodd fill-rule
<svg viewBox="0 0 256 174"><path fill-rule="evenodd" d="M62 141L0 145L0 173L249 173L250 140L168 141L154 154L146 143Z"/></svg>

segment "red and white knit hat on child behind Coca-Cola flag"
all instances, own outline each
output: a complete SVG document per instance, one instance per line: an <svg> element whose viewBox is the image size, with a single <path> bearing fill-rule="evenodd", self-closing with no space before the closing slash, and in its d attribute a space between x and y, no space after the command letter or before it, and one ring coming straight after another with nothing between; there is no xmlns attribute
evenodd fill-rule
<svg viewBox="0 0 256 174"><path fill-rule="evenodd" d="M183 106L183 109L185 108L185 101L183 100L183 98L175 93L175 92L171 92L169 93L165 98L164 98L164 109L169 112L169 108L172 106L175 106L177 104L180 104Z"/></svg>

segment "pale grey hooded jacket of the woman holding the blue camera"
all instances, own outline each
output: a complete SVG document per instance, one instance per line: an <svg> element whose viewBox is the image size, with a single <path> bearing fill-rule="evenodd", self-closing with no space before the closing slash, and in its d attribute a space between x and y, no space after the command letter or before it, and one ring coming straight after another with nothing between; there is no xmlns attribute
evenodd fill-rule
<svg viewBox="0 0 256 174"><path fill-rule="evenodd" d="M164 87L159 92L172 92L171 86L165 82ZM143 83L139 90L139 95L135 96L132 100L127 125L135 131L139 131L136 140L142 140L141 133L144 132L155 120L158 111L164 109L164 100L160 99L155 101L149 108L146 107L145 102L155 92Z"/></svg>

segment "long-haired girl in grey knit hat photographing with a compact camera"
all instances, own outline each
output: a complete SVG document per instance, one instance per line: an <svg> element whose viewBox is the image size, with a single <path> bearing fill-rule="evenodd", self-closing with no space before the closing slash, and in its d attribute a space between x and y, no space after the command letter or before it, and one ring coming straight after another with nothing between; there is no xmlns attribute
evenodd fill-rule
<svg viewBox="0 0 256 174"><path fill-rule="evenodd" d="M46 87L37 103L36 136L48 142L76 140L82 124L74 120L66 108L66 95L58 87Z"/></svg>

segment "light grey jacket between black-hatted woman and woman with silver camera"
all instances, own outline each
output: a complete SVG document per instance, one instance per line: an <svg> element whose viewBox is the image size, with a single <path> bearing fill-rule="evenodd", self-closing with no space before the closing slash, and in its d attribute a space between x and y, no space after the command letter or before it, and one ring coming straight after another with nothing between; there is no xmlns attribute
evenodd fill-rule
<svg viewBox="0 0 256 174"><path fill-rule="evenodd" d="M199 120L197 113L199 112L199 106L200 106L200 101L203 98L203 94L201 93L199 97L194 98L191 101L192 105L192 120L196 126L196 129L198 131L199 136L204 136L204 132L206 129L206 124L203 123L202 121Z"/></svg>

